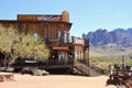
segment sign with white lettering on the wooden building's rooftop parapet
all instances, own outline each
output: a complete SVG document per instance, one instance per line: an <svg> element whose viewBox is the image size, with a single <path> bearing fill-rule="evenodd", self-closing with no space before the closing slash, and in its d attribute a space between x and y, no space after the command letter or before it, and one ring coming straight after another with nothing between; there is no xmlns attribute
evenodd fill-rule
<svg viewBox="0 0 132 88"><path fill-rule="evenodd" d="M38 15L37 16L38 21L59 21L61 16L59 15Z"/></svg>

